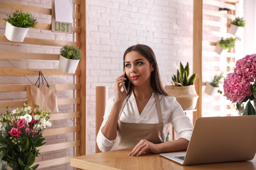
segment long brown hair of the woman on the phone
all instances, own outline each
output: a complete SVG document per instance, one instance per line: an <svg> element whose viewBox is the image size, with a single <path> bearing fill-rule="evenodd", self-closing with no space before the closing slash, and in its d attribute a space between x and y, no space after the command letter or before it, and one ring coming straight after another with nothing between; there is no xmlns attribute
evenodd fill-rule
<svg viewBox="0 0 256 170"><path fill-rule="evenodd" d="M125 69L125 56L132 51L139 52L142 56L144 56L144 58L148 59L150 64L153 65L154 71L151 72L151 76L150 76L150 86L152 87L152 89L155 92L160 93L162 95L168 95L167 92L165 92L165 89L163 88L163 84L161 83L161 80L160 80L160 73L158 69L158 63L156 61L156 56L152 48L150 48L149 46L144 44L137 44L127 48L127 50L125 50L125 53L123 54L123 70ZM127 93L128 96L131 94L132 90L133 90L133 84L130 83L130 90Z"/></svg>

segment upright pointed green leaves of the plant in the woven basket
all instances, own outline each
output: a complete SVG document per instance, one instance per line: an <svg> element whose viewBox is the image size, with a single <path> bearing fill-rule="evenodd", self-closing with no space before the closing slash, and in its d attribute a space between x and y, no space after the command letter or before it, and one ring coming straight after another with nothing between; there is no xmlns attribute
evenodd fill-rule
<svg viewBox="0 0 256 170"><path fill-rule="evenodd" d="M173 75L171 78L175 83L175 86L190 86L194 84L196 80L196 73L194 73L190 78L189 75L189 65L186 63L186 67L184 68L182 63L180 62L180 71L177 69L177 75Z"/></svg>

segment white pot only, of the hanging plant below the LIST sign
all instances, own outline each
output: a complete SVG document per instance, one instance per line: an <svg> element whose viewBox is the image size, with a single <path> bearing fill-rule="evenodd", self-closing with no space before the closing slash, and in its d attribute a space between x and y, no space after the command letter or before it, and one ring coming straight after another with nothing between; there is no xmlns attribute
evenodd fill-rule
<svg viewBox="0 0 256 170"><path fill-rule="evenodd" d="M60 55L60 63L58 69L64 73L75 73L80 59L68 59Z"/></svg>

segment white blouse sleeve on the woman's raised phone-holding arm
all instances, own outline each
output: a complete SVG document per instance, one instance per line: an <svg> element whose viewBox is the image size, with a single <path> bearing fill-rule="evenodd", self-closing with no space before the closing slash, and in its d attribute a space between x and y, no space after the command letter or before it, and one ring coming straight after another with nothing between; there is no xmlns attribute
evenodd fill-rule
<svg viewBox="0 0 256 170"><path fill-rule="evenodd" d="M113 103L114 103L114 97L110 97L110 99L108 100L108 102L106 104L106 109L105 109L105 112L104 112L103 122L100 126L100 130L98 131L98 135L96 137L96 143L98 144L98 148L102 152L106 152L106 151L111 150L111 148L116 143L116 139L114 139L113 141L110 141L101 132L102 127L106 124L106 121L108 120L108 117L110 116L110 112L112 110Z"/></svg>

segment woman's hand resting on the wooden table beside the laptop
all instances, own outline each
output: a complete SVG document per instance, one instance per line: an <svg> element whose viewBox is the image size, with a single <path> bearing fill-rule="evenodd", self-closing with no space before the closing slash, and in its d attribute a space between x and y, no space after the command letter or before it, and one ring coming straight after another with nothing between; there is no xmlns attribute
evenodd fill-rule
<svg viewBox="0 0 256 170"><path fill-rule="evenodd" d="M144 152L151 152L154 154L160 153L160 148L158 148L158 144L150 143L145 139L141 140L133 150L129 153L129 156L140 156Z"/></svg>

